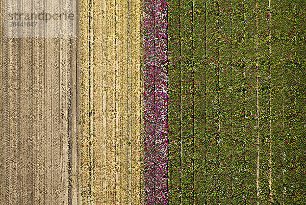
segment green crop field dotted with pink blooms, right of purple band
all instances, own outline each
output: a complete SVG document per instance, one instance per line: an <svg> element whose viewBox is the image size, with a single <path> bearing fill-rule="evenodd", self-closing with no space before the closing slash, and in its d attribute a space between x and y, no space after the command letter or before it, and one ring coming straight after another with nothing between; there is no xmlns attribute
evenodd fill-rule
<svg viewBox="0 0 306 205"><path fill-rule="evenodd" d="M306 3L168 1L169 204L304 204Z"/></svg>

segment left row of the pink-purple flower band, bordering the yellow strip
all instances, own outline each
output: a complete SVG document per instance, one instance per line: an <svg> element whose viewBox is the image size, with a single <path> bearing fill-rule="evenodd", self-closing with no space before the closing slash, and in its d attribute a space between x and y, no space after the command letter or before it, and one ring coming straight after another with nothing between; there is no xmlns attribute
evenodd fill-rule
<svg viewBox="0 0 306 205"><path fill-rule="evenodd" d="M143 69L144 69L144 201L155 203L155 42L154 4L144 1Z"/></svg>

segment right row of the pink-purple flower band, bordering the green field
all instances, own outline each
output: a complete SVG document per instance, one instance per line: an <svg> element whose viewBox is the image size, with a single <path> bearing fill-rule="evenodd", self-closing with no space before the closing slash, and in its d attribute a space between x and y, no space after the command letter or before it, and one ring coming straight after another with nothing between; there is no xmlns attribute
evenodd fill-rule
<svg viewBox="0 0 306 205"><path fill-rule="evenodd" d="M168 120L167 120L167 2L156 0L155 13L155 99L156 99L156 203L168 200Z"/></svg>

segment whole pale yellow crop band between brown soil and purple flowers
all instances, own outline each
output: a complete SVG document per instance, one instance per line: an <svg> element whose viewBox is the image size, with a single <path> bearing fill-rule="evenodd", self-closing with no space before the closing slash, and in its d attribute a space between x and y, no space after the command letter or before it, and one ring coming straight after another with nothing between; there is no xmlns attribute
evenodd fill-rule
<svg viewBox="0 0 306 205"><path fill-rule="evenodd" d="M78 169L82 204L141 204L141 7L80 1Z"/></svg>

